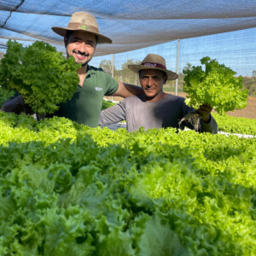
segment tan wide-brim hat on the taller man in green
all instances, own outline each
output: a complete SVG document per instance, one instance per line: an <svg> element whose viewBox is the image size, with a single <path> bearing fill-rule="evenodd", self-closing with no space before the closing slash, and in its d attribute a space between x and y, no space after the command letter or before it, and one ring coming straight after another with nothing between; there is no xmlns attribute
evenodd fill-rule
<svg viewBox="0 0 256 256"><path fill-rule="evenodd" d="M110 38L107 38L99 33L99 27L95 16L85 12L73 13L67 27L53 26L51 29L62 37L65 37L68 30L89 32L96 35L97 43L112 43Z"/></svg>

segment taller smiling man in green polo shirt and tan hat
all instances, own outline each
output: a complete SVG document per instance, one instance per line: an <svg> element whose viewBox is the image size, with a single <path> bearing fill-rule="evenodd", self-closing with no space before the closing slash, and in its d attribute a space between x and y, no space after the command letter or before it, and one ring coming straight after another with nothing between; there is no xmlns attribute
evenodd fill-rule
<svg viewBox="0 0 256 256"><path fill-rule="evenodd" d="M67 57L73 55L82 67L77 71L79 84L70 101L60 105L55 116L72 119L79 124L96 127L102 109L103 96L132 96L143 94L139 86L117 82L101 68L91 67L96 44L111 44L112 40L99 33L96 18L85 12L71 16L67 27L54 26L52 30L64 38ZM3 103L3 111L20 113L25 109L21 96Z"/></svg>

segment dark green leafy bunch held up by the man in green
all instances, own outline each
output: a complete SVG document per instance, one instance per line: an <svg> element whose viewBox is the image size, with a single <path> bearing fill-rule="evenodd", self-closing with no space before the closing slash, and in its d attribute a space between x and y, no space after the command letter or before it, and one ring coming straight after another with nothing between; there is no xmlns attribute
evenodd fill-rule
<svg viewBox="0 0 256 256"><path fill-rule="evenodd" d="M78 65L55 47L36 41L23 47L9 40L0 64L0 84L15 90L35 113L54 113L73 96L79 84Z"/></svg>

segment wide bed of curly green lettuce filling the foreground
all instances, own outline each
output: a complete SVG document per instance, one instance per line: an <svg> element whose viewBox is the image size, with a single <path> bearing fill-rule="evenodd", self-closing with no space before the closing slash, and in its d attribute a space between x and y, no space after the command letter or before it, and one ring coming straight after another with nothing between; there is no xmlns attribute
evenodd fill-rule
<svg viewBox="0 0 256 256"><path fill-rule="evenodd" d="M255 138L0 112L0 255L254 255Z"/></svg>

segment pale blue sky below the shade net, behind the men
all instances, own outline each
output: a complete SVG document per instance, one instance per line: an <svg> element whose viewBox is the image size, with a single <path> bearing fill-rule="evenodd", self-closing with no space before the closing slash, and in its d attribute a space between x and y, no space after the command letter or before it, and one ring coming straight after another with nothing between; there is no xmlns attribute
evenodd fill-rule
<svg viewBox="0 0 256 256"><path fill-rule="evenodd" d="M114 59L114 65L121 69L121 65L130 59L143 61L144 57L151 54L161 55L166 59L169 70L182 73L187 63L194 66L201 65L201 58L209 56L220 64L233 69L237 75L252 76L256 70L256 28L225 32L199 38L179 40L178 65L177 41L158 44L144 49L132 50L115 55L95 56L90 65L98 67L102 60Z"/></svg>

